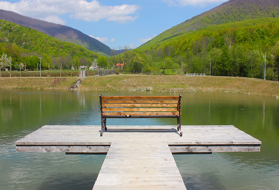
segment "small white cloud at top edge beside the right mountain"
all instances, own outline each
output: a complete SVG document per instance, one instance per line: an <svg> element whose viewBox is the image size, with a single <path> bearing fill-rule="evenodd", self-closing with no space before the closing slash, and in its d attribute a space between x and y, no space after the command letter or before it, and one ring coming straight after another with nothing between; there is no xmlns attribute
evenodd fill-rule
<svg viewBox="0 0 279 190"><path fill-rule="evenodd" d="M169 6L186 6L186 5L192 5L192 6L206 6L208 4L212 3L223 3L228 0L162 0L162 2L165 2L169 4Z"/></svg>

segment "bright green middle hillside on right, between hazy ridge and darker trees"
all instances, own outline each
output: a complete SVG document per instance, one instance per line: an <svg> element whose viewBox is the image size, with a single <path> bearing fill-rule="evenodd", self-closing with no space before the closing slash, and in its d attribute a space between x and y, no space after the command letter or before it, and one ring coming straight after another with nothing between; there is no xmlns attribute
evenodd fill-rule
<svg viewBox="0 0 279 190"><path fill-rule="evenodd" d="M207 38L206 43L210 43L208 48L222 47L225 45L225 36L233 36L235 45L241 44L247 48L265 50L275 45L279 40L278 36L279 18L258 18L239 22L232 22L220 25L211 25L200 30L188 32L176 37L168 38L158 43L150 43L137 48L137 50L158 50L166 49L168 46L172 49L165 56L175 56L191 51L196 48L196 43ZM210 39L209 39L210 38ZM205 42L202 42L205 43ZM208 44L209 45L209 44ZM195 46L195 47L194 47ZM163 55L164 56L164 55Z"/></svg>

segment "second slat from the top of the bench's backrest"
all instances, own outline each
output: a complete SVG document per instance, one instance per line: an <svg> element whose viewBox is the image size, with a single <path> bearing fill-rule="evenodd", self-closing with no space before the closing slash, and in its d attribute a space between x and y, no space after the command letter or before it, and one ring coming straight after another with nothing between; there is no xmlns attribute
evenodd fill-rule
<svg viewBox="0 0 279 190"><path fill-rule="evenodd" d="M178 100L102 100L102 103L148 103L148 104L178 104Z"/></svg>

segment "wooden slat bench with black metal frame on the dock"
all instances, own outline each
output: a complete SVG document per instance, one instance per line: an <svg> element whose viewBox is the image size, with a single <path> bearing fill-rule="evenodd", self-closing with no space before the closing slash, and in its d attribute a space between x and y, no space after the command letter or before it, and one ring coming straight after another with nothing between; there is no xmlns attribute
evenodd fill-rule
<svg viewBox="0 0 279 190"><path fill-rule="evenodd" d="M102 130L107 118L177 118L181 132L181 94L179 96L102 96L100 94Z"/></svg>

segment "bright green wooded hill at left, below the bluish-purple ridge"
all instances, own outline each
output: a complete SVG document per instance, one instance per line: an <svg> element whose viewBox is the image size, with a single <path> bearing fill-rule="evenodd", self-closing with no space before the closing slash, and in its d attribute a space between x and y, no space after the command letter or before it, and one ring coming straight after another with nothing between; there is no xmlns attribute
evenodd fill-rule
<svg viewBox="0 0 279 190"><path fill-rule="evenodd" d="M91 65L98 59L99 65L106 64L106 57L74 43L62 42L37 30L0 20L0 56L7 54L12 58L12 70L26 62L29 70L35 69L43 57L44 68L71 69L71 66ZM103 62L102 62L103 61ZM2 68L3 69L3 68Z"/></svg>

